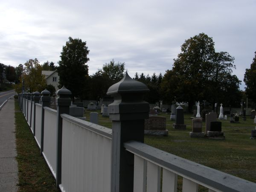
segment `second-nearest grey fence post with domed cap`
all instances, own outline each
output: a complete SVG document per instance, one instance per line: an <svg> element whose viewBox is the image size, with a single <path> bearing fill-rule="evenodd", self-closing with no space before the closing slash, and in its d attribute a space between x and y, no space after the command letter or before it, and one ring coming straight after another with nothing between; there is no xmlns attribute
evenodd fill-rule
<svg viewBox="0 0 256 192"><path fill-rule="evenodd" d="M71 91L62 87L56 91L58 97L56 98L57 106L57 155L56 155L56 186L58 188L61 184L61 153L62 153L62 118L61 114L69 114L69 108L71 104Z"/></svg>

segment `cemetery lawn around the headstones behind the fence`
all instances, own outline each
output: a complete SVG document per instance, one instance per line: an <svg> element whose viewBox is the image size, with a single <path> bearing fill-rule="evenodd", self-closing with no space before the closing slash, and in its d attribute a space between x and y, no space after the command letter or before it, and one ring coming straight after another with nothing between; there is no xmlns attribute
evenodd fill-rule
<svg viewBox="0 0 256 192"><path fill-rule="evenodd" d="M90 112L92 111L85 110L84 114L88 121ZM99 124L111 128L111 120L108 117L102 117L100 111L96 112L99 113ZM254 164L256 140L250 139L251 130L255 129L256 124L250 116L247 116L247 121L243 121L240 116L238 123L218 120L222 122L225 140L189 137L189 132L192 131L192 119L189 117L192 114L184 115L186 130L174 130L172 128L174 122L170 121L169 114L161 113L159 116L166 116L166 129L169 130L169 135L167 137L145 136L146 144L256 183ZM203 122L203 132L205 132L205 122Z"/></svg>

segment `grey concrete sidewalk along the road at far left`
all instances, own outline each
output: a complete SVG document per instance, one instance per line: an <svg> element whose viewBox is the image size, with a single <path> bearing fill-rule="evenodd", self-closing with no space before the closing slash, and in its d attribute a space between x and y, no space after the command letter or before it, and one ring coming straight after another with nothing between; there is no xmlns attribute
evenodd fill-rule
<svg viewBox="0 0 256 192"><path fill-rule="evenodd" d="M18 166L15 143L14 99L0 111L0 191L18 191Z"/></svg>

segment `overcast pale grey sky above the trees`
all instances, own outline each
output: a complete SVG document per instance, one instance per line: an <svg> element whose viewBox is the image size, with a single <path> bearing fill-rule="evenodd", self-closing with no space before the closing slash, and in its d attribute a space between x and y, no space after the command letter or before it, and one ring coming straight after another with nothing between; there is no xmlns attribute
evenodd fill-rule
<svg viewBox="0 0 256 192"><path fill-rule="evenodd" d="M235 57L242 81L256 51L255 10L255 0L0 0L0 63L57 64L71 36L87 42L90 75L112 59L131 77L158 75L172 69L186 39L204 32L216 52Z"/></svg>

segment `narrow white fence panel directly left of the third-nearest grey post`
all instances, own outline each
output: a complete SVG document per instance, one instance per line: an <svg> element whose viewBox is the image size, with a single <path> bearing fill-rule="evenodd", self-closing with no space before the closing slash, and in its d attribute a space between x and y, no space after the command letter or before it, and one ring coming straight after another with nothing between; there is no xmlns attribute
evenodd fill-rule
<svg viewBox="0 0 256 192"><path fill-rule="evenodd" d="M35 140L41 148L41 123L42 123L42 105L35 104Z"/></svg>

